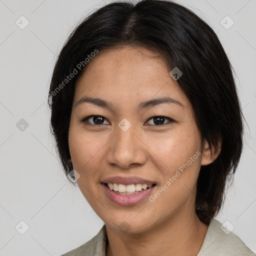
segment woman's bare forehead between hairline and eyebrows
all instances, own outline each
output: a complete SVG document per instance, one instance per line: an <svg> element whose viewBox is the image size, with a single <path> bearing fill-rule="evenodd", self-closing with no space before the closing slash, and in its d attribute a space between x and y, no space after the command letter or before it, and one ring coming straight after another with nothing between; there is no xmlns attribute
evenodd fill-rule
<svg viewBox="0 0 256 256"><path fill-rule="evenodd" d="M99 50L76 81L75 100L96 95L108 101L129 103L170 96L187 105L186 96L169 72L163 57L146 48L124 46Z"/></svg>

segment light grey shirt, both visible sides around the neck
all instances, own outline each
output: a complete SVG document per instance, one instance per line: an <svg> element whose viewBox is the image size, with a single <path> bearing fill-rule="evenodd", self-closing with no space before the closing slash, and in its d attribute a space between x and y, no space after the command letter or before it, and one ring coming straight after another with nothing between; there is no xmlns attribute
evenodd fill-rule
<svg viewBox="0 0 256 256"><path fill-rule="evenodd" d="M221 223L212 219L197 256L256 256L241 239ZM105 225L86 243L61 256L105 256L107 234Z"/></svg>

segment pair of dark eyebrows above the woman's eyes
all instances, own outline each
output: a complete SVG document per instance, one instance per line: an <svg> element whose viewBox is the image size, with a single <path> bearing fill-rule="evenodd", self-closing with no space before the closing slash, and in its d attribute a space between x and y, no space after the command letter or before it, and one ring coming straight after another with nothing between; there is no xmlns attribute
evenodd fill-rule
<svg viewBox="0 0 256 256"><path fill-rule="evenodd" d="M84 97L80 98L76 102L75 107L78 104L81 104L83 102L88 102L88 103L91 103L91 104L94 104L94 105L97 105L97 106L101 106L101 107L105 107L105 108L109 108L109 109L111 109L113 107L112 103L107 102L104 99L93 98L93 97L88 97L88 96L84 96ZM176 104L176 105L179 105L181 107L184 107L183 104L179 100L176 100L174 98L171 98L171 97L167 96L167 97L160 97L160 98L150 99L150 100L147 100L147 101L142 101L138 105L138 108L139 109L148 108L148 107L152 107L152 106L162 104L162 103L172 103L172 104Z"/></svg>

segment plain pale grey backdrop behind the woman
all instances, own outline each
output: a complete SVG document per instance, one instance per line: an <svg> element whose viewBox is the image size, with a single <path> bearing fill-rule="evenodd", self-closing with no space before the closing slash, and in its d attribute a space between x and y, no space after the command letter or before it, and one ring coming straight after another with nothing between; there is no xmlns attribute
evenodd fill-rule
<svg viewBox="0 0 256 256"><path fill-rule="evenodd" d="M0 255L60 255L88 241L103 225L64 176L49 132L46 95L68 34L81 18L109 2L0 0ZM249 128L234 182L216 218L229 221L256 252L256 1L176 2L213 28L237 75Z"/></svg>

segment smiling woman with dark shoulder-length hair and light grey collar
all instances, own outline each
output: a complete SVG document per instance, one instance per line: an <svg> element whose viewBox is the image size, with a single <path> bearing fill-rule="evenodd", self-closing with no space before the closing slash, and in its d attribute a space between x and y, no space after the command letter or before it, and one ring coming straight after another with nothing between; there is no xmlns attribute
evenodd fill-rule
<svg viewBox="0 0 256 256"><path fill-rule="evenodd" d="M255 255L213 218L242 113L223 47L190 10L98 9L61 49L48 103L65 173L105 223L64 255Z"/></svg>

